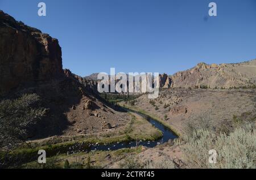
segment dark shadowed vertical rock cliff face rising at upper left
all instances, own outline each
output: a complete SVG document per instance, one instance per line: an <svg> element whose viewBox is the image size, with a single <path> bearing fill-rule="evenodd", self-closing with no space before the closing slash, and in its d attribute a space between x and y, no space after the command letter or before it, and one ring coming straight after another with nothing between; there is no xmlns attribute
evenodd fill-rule
<svg viewBox="0 0 256 180"><path fill-rule="evenodd" d="M0 95L61 74L59 42L0 11Z"/></svg>

